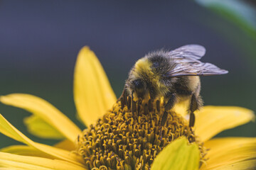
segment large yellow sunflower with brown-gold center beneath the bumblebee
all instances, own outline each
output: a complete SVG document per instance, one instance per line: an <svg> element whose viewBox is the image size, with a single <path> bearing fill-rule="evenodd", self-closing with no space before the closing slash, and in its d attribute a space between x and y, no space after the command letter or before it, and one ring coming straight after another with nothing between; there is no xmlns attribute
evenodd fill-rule
<svg viewBox="0 0 256 170"><path fill-rule="evenodd" d="M28 132L62 140L54 146L33 142L2 115L0 132L23 143L0 150L0 169L256 169L256 139L214 138L219 132L254 119L252 111L233 106L204 106L188 127L186 108L169 111L166 125L161 101L117 100L107 76L89 47L75 65L74 100L80 130L57 108L36 96L1 96L23 108Z"/></svg>

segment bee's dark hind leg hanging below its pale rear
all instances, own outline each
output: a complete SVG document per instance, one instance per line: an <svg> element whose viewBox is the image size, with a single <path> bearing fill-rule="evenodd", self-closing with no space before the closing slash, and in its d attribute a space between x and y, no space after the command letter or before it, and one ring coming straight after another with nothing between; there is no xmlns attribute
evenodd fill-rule
<svg viewBox="0 0 256 170"><path fill-rule="evenodd" d="M195 120L196 120L194 111L196 111L201 105L202 105L201 97L196 96L195 94L192 94L191 104L189 107L189 110L191 111L190 118L189 118L189 127L191 128L195 125Z"/></svg>

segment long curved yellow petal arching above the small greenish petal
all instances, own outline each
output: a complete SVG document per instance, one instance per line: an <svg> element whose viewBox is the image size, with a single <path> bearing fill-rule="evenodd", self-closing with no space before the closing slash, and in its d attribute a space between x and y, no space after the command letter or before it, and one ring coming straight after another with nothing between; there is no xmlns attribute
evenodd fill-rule
<svg viewBox="0 0 256 170"><path fill-rule="evenodd" d="M68 117L42 98L29 94L9 94L1 96L0 101L37 115L72 142L81 132Z"/></svg>

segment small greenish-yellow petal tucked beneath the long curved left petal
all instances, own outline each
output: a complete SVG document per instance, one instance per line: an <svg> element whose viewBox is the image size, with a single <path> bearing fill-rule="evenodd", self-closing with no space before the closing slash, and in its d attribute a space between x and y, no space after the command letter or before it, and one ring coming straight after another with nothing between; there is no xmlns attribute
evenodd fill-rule
<svg viewBox="0 0 256 170"><path fill-rule="evenodd" d="M28 132L37 137L54 140L65 139L65 137L58 130L46 123L46 121L38 117L38 115L31 115L24 118L24 123L28 128Z"/></svg>

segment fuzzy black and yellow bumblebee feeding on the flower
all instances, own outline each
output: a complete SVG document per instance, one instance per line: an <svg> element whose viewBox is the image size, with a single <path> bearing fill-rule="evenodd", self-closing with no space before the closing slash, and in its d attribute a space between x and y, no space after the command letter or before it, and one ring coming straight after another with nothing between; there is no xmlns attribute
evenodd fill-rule
<svg viewBox="0 0 256 170"><path fill-rule="evenodd" d="M193 127L194 111L203 104L199 76L228 73L214 64L199 61L205 53L206 49L201 45L184 45L172 51L150 52L132 67L123 94L142 100L150 98L151 101L164 97L165 112L161 125L165 124L166 111L189 98L189 126Z"/></svg>

